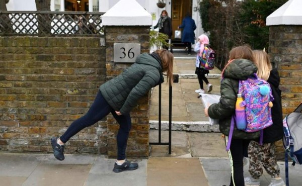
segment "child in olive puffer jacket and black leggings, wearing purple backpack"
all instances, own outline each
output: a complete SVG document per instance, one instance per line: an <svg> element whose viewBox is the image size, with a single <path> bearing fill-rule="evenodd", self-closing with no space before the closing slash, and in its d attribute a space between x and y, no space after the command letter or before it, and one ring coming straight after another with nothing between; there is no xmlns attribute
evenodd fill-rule
<svg viewBox="0 0 302 186"><path fill-rule="evenodd" d="M235 105L239 80L257 72L254 64L253 51L249 46L235 47L230 51L228 64L222 70L220 85L221 98L217 104L204 109L205 115L219 120L219 130L224 135L225 145L228 144L232 116L235 114ZM259 137L259 132L247 133L234 127L232 143L228 151L231 161L230 186L245 186L243 175L243 157L250 140Z"/></svg>

